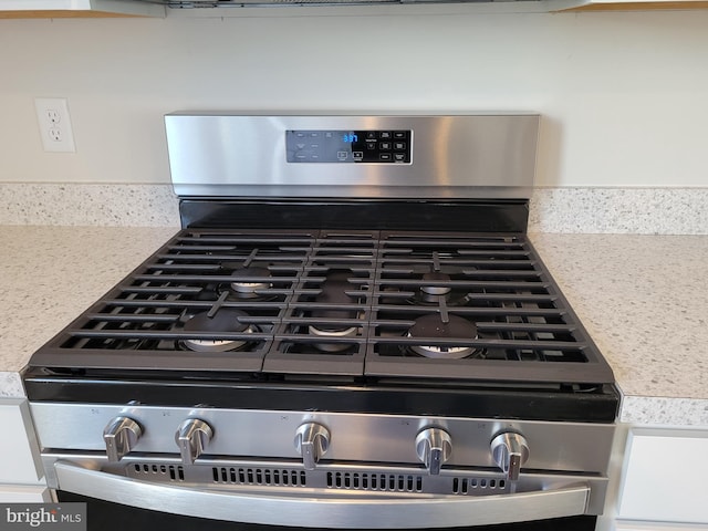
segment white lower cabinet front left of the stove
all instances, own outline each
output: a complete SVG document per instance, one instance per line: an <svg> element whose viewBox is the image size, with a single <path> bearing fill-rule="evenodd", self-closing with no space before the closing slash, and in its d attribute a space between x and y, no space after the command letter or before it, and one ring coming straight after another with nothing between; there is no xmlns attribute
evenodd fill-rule
<svg viewBox="0 0 708 531"><path fill-rule="evenodd" d="M0 399L0 501L49 501L24 398Z"/></svg>

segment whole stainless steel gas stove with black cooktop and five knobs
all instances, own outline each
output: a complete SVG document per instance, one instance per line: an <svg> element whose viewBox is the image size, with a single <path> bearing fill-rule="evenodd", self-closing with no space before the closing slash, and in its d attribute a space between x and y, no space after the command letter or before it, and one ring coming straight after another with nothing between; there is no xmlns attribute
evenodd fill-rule
<svg viewBox="0 0 708 531"><path fill-rule="evenodd" d="M525 236L538 125L168 115L184 229L24 375L59 499L101 529L594 529L618 393Z"/></svg>

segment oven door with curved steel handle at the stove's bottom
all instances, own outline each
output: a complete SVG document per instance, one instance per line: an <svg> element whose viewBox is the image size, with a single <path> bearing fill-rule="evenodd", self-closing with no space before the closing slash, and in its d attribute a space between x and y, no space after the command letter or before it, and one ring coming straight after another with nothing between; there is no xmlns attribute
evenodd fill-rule
<svg viewBox="0 0 708 531"><path fill-rule="evenodd" d="M305 530L459 529L592 530L586 516L591 488L560 489L481 497L324 496L223 492L204 487L155 485L92 470L70 461L54 464L59 501L85 501L88 529L134 530ZM129 520L128 520L129 519ZM135 522L135 523L133 523Z"/></svg>

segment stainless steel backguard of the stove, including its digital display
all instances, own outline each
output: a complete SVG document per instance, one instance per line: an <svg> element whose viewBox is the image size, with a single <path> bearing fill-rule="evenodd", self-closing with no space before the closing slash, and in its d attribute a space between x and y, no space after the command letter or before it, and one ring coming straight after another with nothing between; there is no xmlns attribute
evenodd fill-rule
<svg viewBox="0 0 708 531"><path fill-rule="evenodd" d="M165 117L175 191L210 199L528 199L539 121L532 114Z"/></svg>

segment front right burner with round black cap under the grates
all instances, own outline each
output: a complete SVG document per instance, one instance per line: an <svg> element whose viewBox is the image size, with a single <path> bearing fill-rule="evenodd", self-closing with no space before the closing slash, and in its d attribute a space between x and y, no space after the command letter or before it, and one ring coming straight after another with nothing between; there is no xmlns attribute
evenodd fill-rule
<svg viewBox="0 0 708 531"><path fill-rule="evenodd" d="M449 315L449 322L444 323L438 314L424 315L416 319L408 331L408 337L465 337L476 339L477 326L458 315ZM473 346L445 345L412 345L410 350L425 357L460 360L475 353Z"/></svg>

